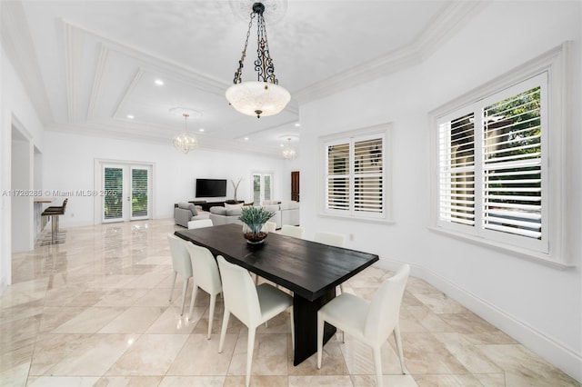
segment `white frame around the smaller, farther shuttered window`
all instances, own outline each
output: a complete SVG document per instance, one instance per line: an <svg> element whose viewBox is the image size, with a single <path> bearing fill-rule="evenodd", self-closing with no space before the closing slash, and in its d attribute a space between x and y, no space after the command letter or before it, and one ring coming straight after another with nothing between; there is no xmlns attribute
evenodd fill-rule
<svg viewBox="0 0 582 387"><path fill-rule="evenodd" d="M330 134L318 138L318 175L320 176L318 184L318 215L328 216L342 219L349 219L354 221L363 221L371 223L392 223L392 139L391 139L391 125L380 124L366 128L357 129L349 132L342 132L338 134ZM327 146L332 144L353 144L354 142L366 140L370 138L382 138L383 140L383 157L382 157L382 208L381 213L355 211L354 210L354 151L350 146L350 172L349 177L352 182L349 192L349 207L348 211L333 210L327 208Z"/></svg>

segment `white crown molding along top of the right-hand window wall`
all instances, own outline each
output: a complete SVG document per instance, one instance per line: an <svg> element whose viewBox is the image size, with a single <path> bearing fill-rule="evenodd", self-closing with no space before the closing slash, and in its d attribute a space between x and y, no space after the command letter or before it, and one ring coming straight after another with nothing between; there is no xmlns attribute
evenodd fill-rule
<svg viewBox="0 0 582 387"><path fill-rule="evenodd" d="M437 52L453 35L457 34L461 26L467 25L486 5L485 0L451 1L410 45L307 86L297 91L294 98L299 104L305 104L418 65Z"/></svg>

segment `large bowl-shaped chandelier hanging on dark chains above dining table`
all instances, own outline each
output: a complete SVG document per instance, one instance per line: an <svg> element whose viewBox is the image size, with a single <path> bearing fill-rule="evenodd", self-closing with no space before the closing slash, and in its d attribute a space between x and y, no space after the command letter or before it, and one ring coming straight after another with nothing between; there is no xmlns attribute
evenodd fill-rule
<svg viewBox="0 0 582 387"><path fill-rule="evenodd" d="M245 48L238 61L234 85L226 90L226 99L229 104L233 105L238 112L246 115L256 115L256 118L281 113L291 100L291 94L284 87L278 85L279 81L275 77L275 66L269 54L269 45L266 41L264 12L265 5L263 3L255 3L253 5L248 32L246 33ZM242 82L241 76L246 57L246 46L248 45L248 37L255 17L257 19L256 34L258 45L256 49L258 57L255 61L257 81Z"/></svg>

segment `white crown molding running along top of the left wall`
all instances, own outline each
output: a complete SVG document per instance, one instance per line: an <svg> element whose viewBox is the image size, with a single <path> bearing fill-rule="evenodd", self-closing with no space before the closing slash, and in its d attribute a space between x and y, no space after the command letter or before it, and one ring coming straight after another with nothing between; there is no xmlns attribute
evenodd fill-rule
<svg viewBox="0 0 582 387"><path fill-rule="evenodd" d="M55 121L21 2L0 1L2 46L43 124Z"/></svg>

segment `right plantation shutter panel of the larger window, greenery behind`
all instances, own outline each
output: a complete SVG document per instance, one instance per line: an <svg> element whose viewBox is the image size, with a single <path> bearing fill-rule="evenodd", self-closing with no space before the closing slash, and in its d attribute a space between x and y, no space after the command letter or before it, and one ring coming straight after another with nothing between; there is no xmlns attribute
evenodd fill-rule
<svg viewBox="0 0 582 387"><path fill-rule="evenodd" d="M483 109L483 227L541 239L540 87Z"/></svg>

